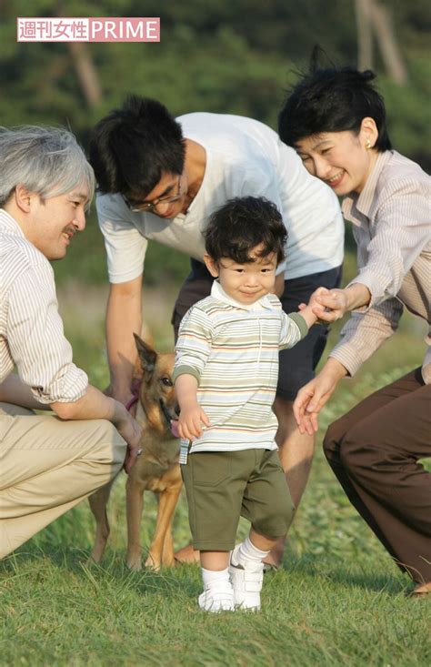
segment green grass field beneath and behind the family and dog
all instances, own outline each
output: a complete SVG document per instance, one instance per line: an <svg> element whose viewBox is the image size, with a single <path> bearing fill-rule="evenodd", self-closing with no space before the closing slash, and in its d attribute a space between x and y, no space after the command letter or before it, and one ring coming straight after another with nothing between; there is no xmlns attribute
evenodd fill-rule
<svg viewBox="0 0 431 667"><path fill-rule="evenodd" d="M173 299L168 289L146 295L148 324L159 349L172 345L166 313ZM100 387L107 381L104 301L105 292L99 288L86 289L83 298L76 286L69 285L60 295L76 362ZM420 363L418 333L416 322L406 318L386 349L366 364L357 379L342 383L326 409L284 568L266 575L259 614L198 611L197 566L159 574L127 571L122 473L109 507L112 535L100 567L85 564L94 532L86 503L0 564L0 665L431 664L431 601L406 598L408 578L351 508L320 449L330 421ZM142 526L145 544L154 524L155 498L148 493ZM246 531L242 522L238 538ZM177 547L189 540L184 497L175 513L174 539Z"/></svg>

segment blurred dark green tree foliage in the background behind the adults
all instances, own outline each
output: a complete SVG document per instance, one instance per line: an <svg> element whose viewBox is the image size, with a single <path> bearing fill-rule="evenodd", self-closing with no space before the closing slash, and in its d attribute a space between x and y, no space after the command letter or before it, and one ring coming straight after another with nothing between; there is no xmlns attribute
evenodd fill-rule
<svg viewBox="0 0 431 667"><path fill-rule="evenodd" d="M424 157L429 128L430 12L425 0L386 0L392 10L411 83L400 90L381 77L394 143L412 157ZM328 61L355 63L354 0L18 0L2 3L0 98L4 125L65 124L86 146L95 121L129 92L161 99L176 114L195 110L236 113L276 126L283 91L306 68L316 42ZM16 16L160 15L160 44L90 44L103 100L85 102L65 44L16 43ZM381 64L377 61L377 71ZM429 164L429 163L427 163Z"/></svg>

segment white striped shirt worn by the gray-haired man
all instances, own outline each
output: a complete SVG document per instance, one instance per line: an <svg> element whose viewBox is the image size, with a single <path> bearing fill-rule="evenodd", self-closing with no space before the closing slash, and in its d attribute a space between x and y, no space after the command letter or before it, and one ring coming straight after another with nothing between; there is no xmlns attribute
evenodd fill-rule
<svg viewBox="0 0 431 667"><path fill-rule="evenodd" d="M63 333L53 269L0 209L0 382L14 366L41 403L73 402L88 386Z"/></svg>

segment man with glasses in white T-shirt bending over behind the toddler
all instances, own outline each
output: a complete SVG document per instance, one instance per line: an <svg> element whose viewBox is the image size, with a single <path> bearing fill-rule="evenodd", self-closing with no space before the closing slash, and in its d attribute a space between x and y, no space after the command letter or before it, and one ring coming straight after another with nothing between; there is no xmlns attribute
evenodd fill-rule
<svg viewBox="0 0 431 667"><path fill-rule="evenodd" d="M191 257L192 272L175 303L175 337L188 308L211 291L213 278L202 263L203 231L216 208L233 197L266 197L283 215L288 265L278 267L275 291L286 312L307 302L317 287L339 283L344 225L336 196L308 174L276 132L256 120L210 113L175 120L159 102L131 96L95 126L90 161L111 283L106 313L111 391L125 404L132 399L132 333L141 329L148 240ZM296 506L314 439L299 433L292 406L298 389L314 377L326 333L316 325L295 349L280 354L277 443ZM277 565L281 545L274 556Z"/></svg>

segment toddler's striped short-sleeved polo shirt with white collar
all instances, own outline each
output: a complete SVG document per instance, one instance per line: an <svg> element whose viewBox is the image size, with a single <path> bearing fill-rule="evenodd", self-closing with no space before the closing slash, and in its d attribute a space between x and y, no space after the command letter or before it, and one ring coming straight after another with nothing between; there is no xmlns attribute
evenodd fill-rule
<svg viewBox="0 0 431 667"><path fill-rule="evenodd" d="M190 452L276 450L278 350L307 331L306 320L286 315L275 295L243 305L213 283L211 296L186 313L176 343L174 379L197 379L197 400L210 421ZM183 440L180 463L187 449Z"/></svg>

